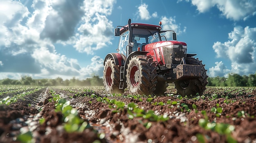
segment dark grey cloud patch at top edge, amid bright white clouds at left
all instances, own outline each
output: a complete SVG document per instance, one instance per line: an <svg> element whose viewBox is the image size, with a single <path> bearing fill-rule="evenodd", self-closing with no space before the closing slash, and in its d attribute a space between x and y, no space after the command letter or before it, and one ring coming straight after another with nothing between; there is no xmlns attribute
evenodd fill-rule
<svg viewBox="0 0 256 143"><path fill-rule="evenodd" d="M49 38L53 42L66 41L74 34L74 29L81 20L83 2L63 0L61 2L52 1L50 4L52 9L48 11L45 27L40 33L40 37Z"/></svg>

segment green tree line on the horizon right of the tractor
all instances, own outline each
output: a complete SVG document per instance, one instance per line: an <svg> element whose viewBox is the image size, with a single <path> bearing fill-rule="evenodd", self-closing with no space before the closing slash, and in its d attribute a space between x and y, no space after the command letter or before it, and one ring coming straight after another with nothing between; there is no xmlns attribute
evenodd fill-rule
<svg viewBox="0 0 256 143"><path fill-rule="evenodd" d="M229 73L228 77L209 77L207 86L256 86L256 73L240 76Z"/></svg>

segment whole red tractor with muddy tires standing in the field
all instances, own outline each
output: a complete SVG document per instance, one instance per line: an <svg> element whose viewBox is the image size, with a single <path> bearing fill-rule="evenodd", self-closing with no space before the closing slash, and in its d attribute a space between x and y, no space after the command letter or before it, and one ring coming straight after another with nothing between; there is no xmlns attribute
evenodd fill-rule
<svg viewBox="0 0 256 143"><path fill-rule="evenodd" d="M196 54L186 53L187 45L177 41L175 31L167 30L173 36L173 41L167 41L161 25L129 19L128 25L117 26L118 53L109 53L104 60L106 92L123 93L128 88L131 94L162 95L174 83L182 96L202 95L208 83L205 65L193 57Z"/></svg>

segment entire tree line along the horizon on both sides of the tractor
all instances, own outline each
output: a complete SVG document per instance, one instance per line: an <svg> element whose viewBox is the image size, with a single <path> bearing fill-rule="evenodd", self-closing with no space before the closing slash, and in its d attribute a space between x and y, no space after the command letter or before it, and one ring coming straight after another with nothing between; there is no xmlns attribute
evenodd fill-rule
<svg viewBox="0 0 256 143"><path fill-rule="evenodd" d="M207 86L256 86L256 73L249 76L240 76L236 73L229 73L228 77L208 77ZM99 76L92 76L84 80L73 77L63 80L61 77L56 79L32 79L23 76L21 79L1 79L0 84L5 85L36 85L36 86L103 86L103 79Z"/></svg>

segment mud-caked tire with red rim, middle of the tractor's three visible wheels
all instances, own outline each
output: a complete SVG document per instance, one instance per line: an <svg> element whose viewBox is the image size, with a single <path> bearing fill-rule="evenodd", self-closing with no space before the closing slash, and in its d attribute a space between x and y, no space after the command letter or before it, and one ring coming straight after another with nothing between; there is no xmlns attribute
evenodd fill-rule
<svg viewBox="0 0 256 143"><path fill-rule="evenodd" d="M155 90L157 71L153 58L139 55L128 64L126 82L131 94L150 95Z"/></svg>

